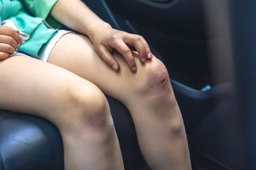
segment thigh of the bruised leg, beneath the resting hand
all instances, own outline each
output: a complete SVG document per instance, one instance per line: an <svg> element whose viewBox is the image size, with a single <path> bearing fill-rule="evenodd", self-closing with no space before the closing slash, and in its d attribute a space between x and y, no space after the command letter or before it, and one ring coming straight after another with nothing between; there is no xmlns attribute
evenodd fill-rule
<svg viewBox="0 0 256 170"><path fill-rule="evenodd" d="M156 57L146 64L140 63L137 52L133 52L137 72L132 73L122 55L117 52L113 56L120 64L120 72L116 73L95 52L89 38L75 33L64 35L53 48L48 61L67 69L97 85L105 94L122 102L131 96L132 88L143 85L148 80L148 70L161 63Z"/></svg>

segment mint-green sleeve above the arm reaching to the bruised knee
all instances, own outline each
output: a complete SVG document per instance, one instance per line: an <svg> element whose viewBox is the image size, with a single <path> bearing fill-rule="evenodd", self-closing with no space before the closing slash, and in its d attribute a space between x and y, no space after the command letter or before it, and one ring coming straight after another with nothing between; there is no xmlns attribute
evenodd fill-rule
<svg viewBox="0 0 256 170"><path fill-rule="evenodd" d="M44 23L50 28L60 28L61 24L51 15L52 7L58 0L20 0L24 7L35 17L42 18Z"/></svg>

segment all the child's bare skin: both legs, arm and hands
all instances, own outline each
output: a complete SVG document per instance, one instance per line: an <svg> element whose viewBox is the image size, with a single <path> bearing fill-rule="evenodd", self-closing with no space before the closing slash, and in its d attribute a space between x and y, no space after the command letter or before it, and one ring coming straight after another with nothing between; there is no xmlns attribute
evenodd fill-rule
<svg viewBox="0 0 256 170"><path fill-rule="evenodd" d="M89 38L64 35L44 63L26 56L8 57L22 41L17 30L1 26L0 109L53 122L63 138L66 170L123 170L105 93L129 109L141 152L152 170L191 170L168 72L152 57L146 41L112 29L79 0L59 0L51 15Z"/></svg>

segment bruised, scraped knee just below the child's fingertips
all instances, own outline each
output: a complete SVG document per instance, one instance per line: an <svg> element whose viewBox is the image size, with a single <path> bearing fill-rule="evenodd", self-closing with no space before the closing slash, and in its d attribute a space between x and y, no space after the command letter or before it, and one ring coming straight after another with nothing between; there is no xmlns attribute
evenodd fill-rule
<svg viewBox="0 0 256 170"><path fill-rule="evenodd" d="M133 95L129 96L132 100L125 103L128 107L139 104L154 109L157 112L155 114L163 119L173 115L171 110L179 109L172 92L168 71L160 60L152 59L138 77L134 78L136 82L132 84Z"/></svg>

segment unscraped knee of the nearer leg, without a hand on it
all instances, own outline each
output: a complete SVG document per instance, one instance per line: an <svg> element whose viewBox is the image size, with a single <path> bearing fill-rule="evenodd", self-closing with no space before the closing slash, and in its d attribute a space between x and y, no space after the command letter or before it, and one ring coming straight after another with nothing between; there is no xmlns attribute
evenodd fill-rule
<svg viewBox="0 0 256 170"><path fill-rule="evenodd" d="M65 122L78 129L101 130L113 126L104 94L94 85L72 85L67 89Z"/></svg>

